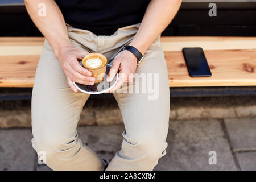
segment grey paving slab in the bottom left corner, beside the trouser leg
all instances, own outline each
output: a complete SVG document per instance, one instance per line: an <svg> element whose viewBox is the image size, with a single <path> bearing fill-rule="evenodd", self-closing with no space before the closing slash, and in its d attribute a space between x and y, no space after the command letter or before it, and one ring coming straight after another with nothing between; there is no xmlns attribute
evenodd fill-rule
<svg viewBox="0 0 256 182"><path fill-rule="evenodd" d="M31 138L29 129L0 130L0 171L34 170Z"/></svg>

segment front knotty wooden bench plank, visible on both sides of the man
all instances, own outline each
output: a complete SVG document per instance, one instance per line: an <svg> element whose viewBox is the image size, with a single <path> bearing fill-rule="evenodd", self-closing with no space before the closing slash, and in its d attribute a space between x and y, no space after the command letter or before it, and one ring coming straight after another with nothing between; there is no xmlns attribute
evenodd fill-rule
<svg viewBox="0 0 256 182"><path fill-rule="evenodd" d="M171 87L255 86L256 49L205 51L212 77L189 76L181 51L164 52ZM1 87L32 87L39 55L0 56Z"/></svg>

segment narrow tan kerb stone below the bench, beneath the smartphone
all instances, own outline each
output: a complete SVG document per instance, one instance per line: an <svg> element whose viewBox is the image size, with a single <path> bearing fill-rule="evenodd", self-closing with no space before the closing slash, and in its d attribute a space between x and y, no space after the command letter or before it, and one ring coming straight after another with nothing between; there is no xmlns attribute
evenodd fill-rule
<svg viewBox="0 0 256 182"><path fill-rule="evenodd" d="M176 110L178 120L236 118L233 108L180 107Z"/></svg>

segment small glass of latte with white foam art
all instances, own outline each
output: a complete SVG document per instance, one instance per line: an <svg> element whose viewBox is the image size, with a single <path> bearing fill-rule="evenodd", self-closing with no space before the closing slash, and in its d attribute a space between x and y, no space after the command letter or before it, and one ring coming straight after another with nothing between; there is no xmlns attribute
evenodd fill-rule
<svg viewBox="0 0 256 182"><path fill-rule="evenodd" d="M98 85L104 80L107 62L108 59L101 53L89 53L82 59L84 68L92 72L92 76L95 78L94 85Z"/></svg>

